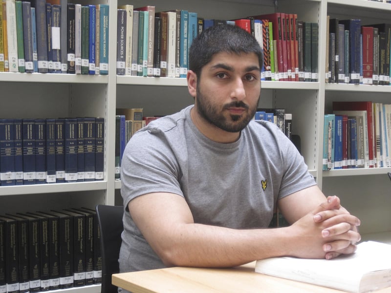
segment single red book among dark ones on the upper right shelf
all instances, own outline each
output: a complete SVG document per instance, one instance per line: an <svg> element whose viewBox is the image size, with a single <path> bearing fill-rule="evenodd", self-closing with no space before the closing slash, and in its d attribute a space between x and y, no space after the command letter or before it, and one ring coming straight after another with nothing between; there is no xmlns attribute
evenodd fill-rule
<svg viewBox="0 0 391 293"><path fill-rule="evenodd" d="M373 27L362 26L363 35L363 84L373 84Z"/></svg>

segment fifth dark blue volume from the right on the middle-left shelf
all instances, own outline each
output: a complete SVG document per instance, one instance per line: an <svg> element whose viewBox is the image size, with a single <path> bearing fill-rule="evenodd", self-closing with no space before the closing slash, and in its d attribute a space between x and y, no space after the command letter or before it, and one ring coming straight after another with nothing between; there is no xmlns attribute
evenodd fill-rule
<svg viewBox="0 0 391 293"><path fill-rule="evenodd" d="M64 118L57 118L56 135L56 183L65 182Z"/></svg>

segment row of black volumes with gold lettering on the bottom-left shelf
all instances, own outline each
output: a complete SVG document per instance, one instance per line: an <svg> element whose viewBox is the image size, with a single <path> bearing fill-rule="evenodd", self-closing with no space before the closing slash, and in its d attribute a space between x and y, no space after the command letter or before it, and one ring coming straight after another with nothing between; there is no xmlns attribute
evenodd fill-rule
<svg viewBox="0 0 391 293"><path fill-rule="evenodd" d="M0 215L0 291L44 292L101 283L96 211Z"/></svg>

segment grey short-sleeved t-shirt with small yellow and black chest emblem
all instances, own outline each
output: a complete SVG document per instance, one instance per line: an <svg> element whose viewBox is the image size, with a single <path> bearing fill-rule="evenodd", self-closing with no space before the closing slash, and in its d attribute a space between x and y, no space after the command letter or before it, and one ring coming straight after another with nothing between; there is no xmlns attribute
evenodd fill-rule
<svg viewBox="0 0 391 293"><path fill-rule="evenodd" d="M216 143L195 127L192 107L153 121L126 146L121 164L126 209L121 272L165 267L127 212L137 196L182 196L195 223L267 228L278 199L316 184L303 157L274 124L251 121L238 141Z"/></svg>

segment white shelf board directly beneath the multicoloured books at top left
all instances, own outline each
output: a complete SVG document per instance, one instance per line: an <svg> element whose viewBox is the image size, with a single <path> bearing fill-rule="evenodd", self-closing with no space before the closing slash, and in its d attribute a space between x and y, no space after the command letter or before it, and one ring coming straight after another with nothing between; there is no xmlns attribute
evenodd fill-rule
<svg viewBox="0 0 391 293"><path fill-rule="evenodd" d="M107 84L108 75L0 72L0 82Z"/></svg>

